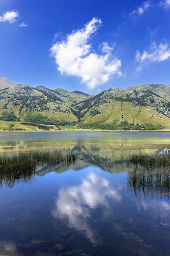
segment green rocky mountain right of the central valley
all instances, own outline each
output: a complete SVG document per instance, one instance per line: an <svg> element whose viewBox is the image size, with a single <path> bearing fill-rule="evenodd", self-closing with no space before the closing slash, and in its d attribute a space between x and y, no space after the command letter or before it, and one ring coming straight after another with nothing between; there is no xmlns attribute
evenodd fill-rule
<svg viewBox="0 0 170 256"><path fill-rule="evenodd" d="M169 101L149 90L111 88L74 108L82 127L105 125L108 129L121 129L123 125L127 129L159 129L170 125Z"/></svg>

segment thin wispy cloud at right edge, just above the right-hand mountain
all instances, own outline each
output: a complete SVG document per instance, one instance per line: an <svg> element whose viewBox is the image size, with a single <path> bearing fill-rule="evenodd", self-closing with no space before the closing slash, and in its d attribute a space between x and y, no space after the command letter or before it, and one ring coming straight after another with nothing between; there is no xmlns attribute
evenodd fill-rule
<svg viewBox="0 0 170 256"><path fill-rule="evenodd" d="M148 51L140 53L136 52L136 61L139 61L140 65L136 68L136 71L141 71L145 65L152 62L161 62L167 60L170 57L170 48L167 43L157 44L152 42Z"/></svg>

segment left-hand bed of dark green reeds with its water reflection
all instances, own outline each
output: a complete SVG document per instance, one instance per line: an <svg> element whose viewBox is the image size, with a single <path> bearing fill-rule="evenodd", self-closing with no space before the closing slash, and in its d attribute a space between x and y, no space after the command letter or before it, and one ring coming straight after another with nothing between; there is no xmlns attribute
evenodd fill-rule
<svg viewBox="0 0 170 256"><path fill-rule="evenodd" d="M20 152L14 156L0 156L0 186L12 188L16 183L31 182L38 164L71 164L76 161L76 154L70 150L47 152Z"/></svg>

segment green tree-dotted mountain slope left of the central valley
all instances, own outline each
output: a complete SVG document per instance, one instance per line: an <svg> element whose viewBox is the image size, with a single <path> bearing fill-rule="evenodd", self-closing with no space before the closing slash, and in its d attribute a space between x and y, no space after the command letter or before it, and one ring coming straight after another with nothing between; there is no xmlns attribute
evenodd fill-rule
<svg viewBox="0 0 170 256"><path fill-rule="evenodd" d="M1 120L9 120L8 115L11 112L18 118L17 120L36 124L62 124L77 120L57 93L41 87L32 88L26 84L15 84L1 90ZM15 120L11 117L9 121Z"/></svg>

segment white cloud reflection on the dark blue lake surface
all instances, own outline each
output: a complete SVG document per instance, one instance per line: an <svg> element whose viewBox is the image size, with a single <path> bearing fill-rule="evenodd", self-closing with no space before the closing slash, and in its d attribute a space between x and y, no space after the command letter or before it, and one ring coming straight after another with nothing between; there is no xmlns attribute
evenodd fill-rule
<svg viewBox="0 0 170 256"><path fill-rule="evenodd" d="M109 200L121 201L121 195L111 188L109 181L95 172L90 172L81 184L60 189L52 211L54 218L67 219L69 227L76 228L97 244L102 242L96 231L88 223L92 210L102 207L109 214Z"/></svg>

